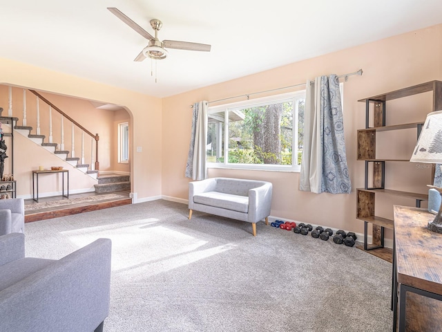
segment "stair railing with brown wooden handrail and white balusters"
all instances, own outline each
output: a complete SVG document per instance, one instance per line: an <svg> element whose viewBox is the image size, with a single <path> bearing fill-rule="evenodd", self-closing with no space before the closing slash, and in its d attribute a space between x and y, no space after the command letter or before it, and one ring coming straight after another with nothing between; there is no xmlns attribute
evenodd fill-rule
<svg viewBox="0 0 442 332"><path fill-rule="evenodd" d="M79 129L81 129L82 131L82 136L81 136L81 148L84 149L84 138L83 135L84 133L87 133L91 138L91 167L94 164L93 161L93 140L95 140L95 170L99 171L99 160L98 160L98 141L99 141L99 135L98 133L96 133L95 135L93 133L91 133L90 131L88 131L88 129L84 128L81 124L79 124L77 121L75 121L73 118L70 118L70 116L68 116L66 113L64 113L64 111L61 111L61 109L59 109L57 106L55 106L54 104L52 104L52 102L50 102L49 100L47 100L46 98L44 98L43 95L39 94L37 91L35 90L31 90L29 89L29 91L31 93L33 93L34 95L37 96L37 135L39 135L39 100L45 102L46 104L48 104L49 106L49 130L50 130L50 135L49 135L49 142L52 143L52 109L55 109L55 111L57 111L58 113L61 114L61 150L64 150L64 126L63 126L63 119L66 118L67 120L69 120L70 122L72 122L72 139L74 140L74 125L77 126ZM26 126L26 90L23 89L23 126ZM74 145L72 147L74 149ZM75 152L74 150L71 151L71 156L73 158L75 158L74 156ZM82 164L84 164L84 151L81 151L81 160L80 162Z"/></svg>

